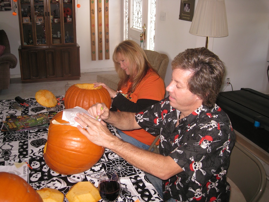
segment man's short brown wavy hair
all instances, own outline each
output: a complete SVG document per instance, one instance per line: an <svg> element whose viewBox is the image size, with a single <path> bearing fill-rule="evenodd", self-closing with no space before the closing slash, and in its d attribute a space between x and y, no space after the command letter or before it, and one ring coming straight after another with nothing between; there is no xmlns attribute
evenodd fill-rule
<svg viewBox="0 0 269 202"><path fill-rule="evenodd" d="M202 99L202 104L213 107L224 76L224 63L207 48L187 49L172 61L172 70L192 72L188 89Z"/></svg>

